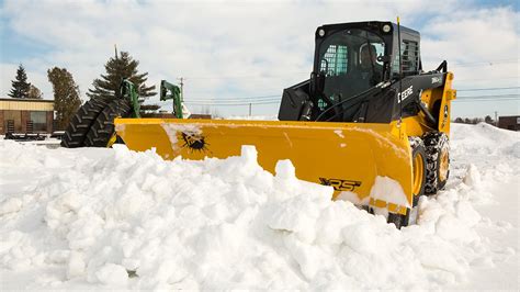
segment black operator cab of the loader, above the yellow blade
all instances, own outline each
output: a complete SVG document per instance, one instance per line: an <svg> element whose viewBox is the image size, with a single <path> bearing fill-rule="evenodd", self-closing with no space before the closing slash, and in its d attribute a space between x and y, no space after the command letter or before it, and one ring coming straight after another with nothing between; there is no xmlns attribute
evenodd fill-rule
<svg viewBox="0 0 520 292"><path fill-rule="evenodd" d="M340 103L341 109L335 112L344 114L337 114L330 121L351 122L362 102L359 96L399 78L397 24L376 21L328 24L316 30L315 38L310 79L284 90L281 121L316 121L320 113ZM403 75L420 74L419 33L400 26L400 38Z"/></svg>

